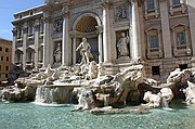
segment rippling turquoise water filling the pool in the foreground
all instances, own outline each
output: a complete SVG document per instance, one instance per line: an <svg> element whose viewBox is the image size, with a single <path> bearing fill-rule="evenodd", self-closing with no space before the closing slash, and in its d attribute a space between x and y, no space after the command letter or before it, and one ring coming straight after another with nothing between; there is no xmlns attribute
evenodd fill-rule
<svg viewBox="0 0 195 129"><path fill-rule="evenodd" d="M0 129L195 129L195 106L173 103L172 111L148 114L92 115L69 112L72 106L0 103Z"/></svg>

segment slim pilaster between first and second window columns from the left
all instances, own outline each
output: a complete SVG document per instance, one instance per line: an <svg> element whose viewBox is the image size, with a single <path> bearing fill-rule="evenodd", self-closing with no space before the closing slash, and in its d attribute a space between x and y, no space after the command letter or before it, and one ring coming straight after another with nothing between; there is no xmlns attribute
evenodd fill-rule
<svg viewBox="0 0 195 129"><path fill-rule="evenodd" d="M28 28L27 23L23 26L23 69L26 69L26 43L27 43Z"/></svg>

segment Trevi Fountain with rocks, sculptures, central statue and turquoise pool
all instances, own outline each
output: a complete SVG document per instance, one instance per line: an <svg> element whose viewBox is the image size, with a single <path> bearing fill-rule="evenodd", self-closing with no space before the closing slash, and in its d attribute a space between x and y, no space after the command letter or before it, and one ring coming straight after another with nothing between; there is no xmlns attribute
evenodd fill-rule
<svg viewBox="0 0 195 129"><path fill-rule="evenodd" d="M48 64L1 88L0 129L195 128L195 67L177 68L162 83L144 76L141 57L108 75L92 60L86 38L76 51L79 64Z"/></svg>

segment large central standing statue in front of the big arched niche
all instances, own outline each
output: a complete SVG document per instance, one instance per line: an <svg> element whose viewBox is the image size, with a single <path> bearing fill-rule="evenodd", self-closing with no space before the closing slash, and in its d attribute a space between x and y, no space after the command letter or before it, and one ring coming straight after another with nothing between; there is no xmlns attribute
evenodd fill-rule
<svg viewBox="0 0 195 129"><path fill-rule="evenodd" d="M90 57L93 57L91 54L91 47L87 42L87 38L82 38L82 42L77 47L76 51L80 50L80 55L82 56L80 64L88 64Z"/></svg>

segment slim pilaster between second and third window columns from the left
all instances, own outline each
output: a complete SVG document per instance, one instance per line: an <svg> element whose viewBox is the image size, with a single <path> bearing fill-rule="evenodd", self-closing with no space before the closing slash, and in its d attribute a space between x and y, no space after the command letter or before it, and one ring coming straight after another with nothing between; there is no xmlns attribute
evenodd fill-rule
<svg viewBox="0 0 195 129"><path fill-rule="evenodd" d="M39 21L37 20L35 23L35 56L34 56L34 63L35 63L35 69L38 69L38 62L39 62Z"/></svg>

